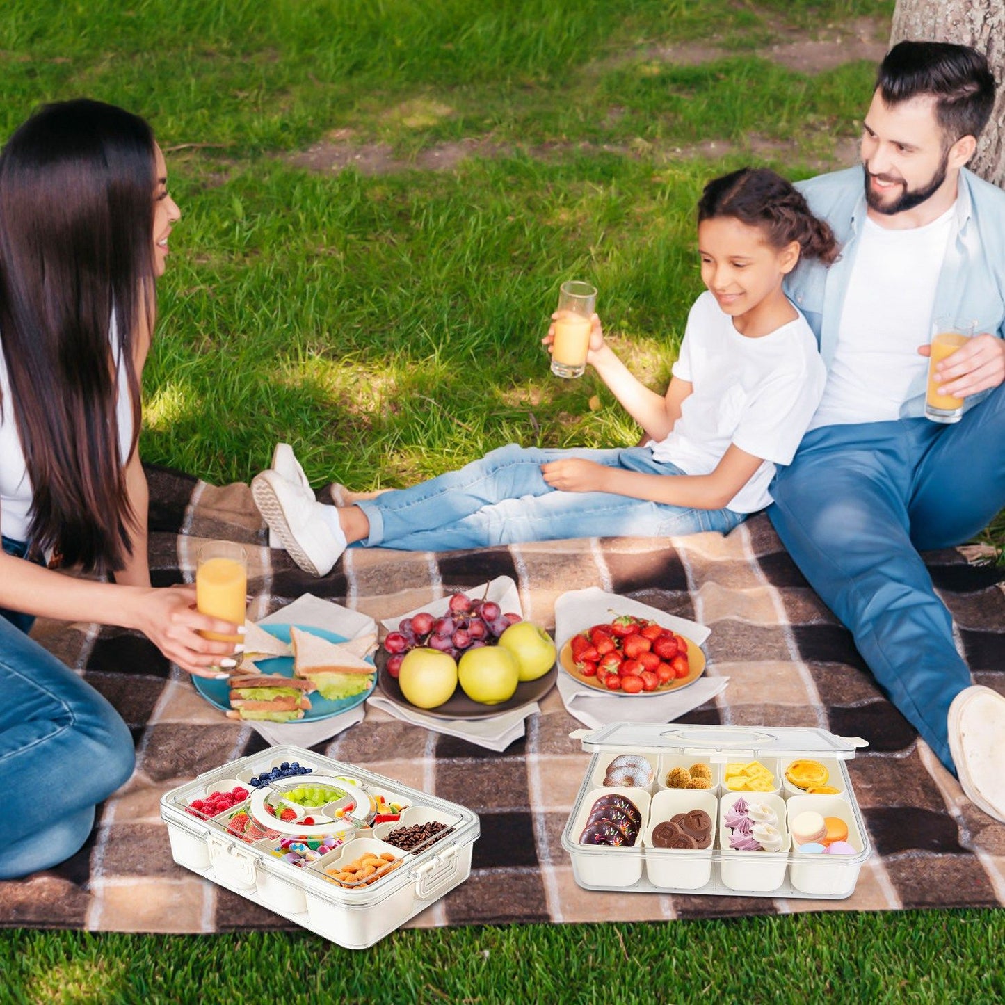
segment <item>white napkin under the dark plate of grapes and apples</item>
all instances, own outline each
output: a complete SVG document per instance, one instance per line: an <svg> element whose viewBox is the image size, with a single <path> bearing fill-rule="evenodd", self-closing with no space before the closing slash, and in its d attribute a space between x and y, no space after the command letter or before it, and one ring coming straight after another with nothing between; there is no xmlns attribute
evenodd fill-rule
<svg viewBox="0 0 1005 1005"><path fill-rule="evenodd" d="M517 589L517 584L509 576L496 576L490 583L472 586L464 592L472 599L484 596L486 600L494 600L502 609L504 614L511 611L520 615L524 613L520 605L520 591ZM440 597L438 600L431 600L429 603L406 611L404 614L384 618L381 624L388 631L397 631L398 624L404 618L410 618L418 614L419 611L428 611L436 617L441 617L450 609L449 603L449 597ZM403 723L421 726L423 729L433 733L443 733L448 737L457 737L496 753L505 751L515 740L524 736L524 720L541 711L535 702L513 712L499 713L499 715L489 719L437 719L434 716L424 716L418 709L406 709L385 697L379 691L374 691L368 703L382 709L389 716L394 716L395 719L399 719Z"/></svg>

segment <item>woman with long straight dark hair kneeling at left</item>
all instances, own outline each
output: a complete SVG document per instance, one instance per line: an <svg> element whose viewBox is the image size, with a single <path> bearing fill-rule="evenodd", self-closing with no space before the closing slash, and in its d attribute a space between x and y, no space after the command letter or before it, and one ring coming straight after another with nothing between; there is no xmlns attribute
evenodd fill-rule
<svg viewBox="0 0 1005 1005"><path fill-rule="evenodd" d="M191 586L152 588L147 560L140 377L180 215L150 127L122 109L46 106L0 154L0 878L73 854L133 771L128 727L28 637L35 616L139 629L190 673L232 665L198 631L236 626Z"/></svg>

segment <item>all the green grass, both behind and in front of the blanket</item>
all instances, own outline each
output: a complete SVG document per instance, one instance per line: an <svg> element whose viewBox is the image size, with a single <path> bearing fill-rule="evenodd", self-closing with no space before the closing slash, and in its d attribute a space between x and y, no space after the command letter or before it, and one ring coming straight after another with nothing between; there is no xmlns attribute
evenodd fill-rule
<svg viewBox="0 0 1005 1005"><path fill-rule="evenodd" d="M776 168L812 173L871 89L864 63L806 76L755 51L891 11L7 0L0 137L40 102L88 94L148 117L169 151L184 218L144 379L146 458L246 480L285 439L316 482L403 484L511 440L630 442L596 382L548 375L559 283L595 281L619 351L664 385L700 288L702 183L766 156L745 152L752 133ZM688 44L732 55L660 61ZM460 140L494 156L377 177L289 163L347 138L406 165ZM709 140L719 159L677 156ZM1003 935L1000 912L402 932L361 954L308 934L15 930L0 1000L980 1003L1005 993Z"/></svg>

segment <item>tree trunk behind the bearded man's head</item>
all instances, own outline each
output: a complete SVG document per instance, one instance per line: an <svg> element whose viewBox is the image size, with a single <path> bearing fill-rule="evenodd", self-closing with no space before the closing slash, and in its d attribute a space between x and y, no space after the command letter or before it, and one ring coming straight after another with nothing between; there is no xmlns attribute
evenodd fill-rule
<svg viewBox="0 0 1005 1005"><path fill-rule="evenodd" d="M1002 0L896 0L890 45L903 39L972 45L998 81L994 112L969 167L1005 188L1005 3Z"/></svg>

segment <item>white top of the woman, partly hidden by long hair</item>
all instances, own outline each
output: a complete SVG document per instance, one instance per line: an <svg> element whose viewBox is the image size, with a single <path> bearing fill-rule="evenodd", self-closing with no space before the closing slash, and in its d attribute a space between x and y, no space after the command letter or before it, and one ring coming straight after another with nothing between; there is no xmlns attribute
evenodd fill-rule
<svg viewBox="0 0 1005 1005"><path fill-rule="evenodd" d="M114 317L111 342L113 353L118 360L119 399L116 403L116 417L119 425L119 452L125 464L129 459L128 451L133 440L133 403L129 396L126 368L119 348L119 335ZM28 527L31 524L31 502L34 493L24 462L21 438L17 432L17 420L14 418L7 359L2 352L0 352L0 394L3 395L3 400L0 402L0 532L5 538L13 541L26 541Z"/></svg>

